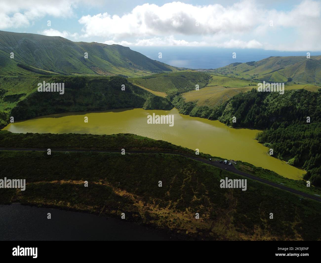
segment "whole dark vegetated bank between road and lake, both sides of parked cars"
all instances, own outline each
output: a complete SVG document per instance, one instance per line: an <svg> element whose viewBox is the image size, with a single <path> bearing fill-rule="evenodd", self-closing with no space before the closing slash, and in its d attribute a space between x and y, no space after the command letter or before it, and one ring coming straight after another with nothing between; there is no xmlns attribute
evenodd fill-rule
<svg viewBox="0 0 321 263"><path fill-rule="evenodd" d="M134 134L112 134L112 135L92 135L92 134L38 134L38 133L11 133L0 131L0 147L2 148L38 148L38 149L74 149L74 150L116 150L126 149L126 151L154 151L183 153L195 156L195 151L165 142L153 140L147 137ZM47 152L46 152L47 153ZM46 156L46 154L45 154ZM46 156L47 157L47 156ZM211 156L206 153L199 153L199 157L212 160L224 160L224 158ZM225 158L226 159L226 158ZM290 188L305 192L311 195L321 195L321 189L317 187L307 187L305 180L292 180L277 173L253 166L247 162L237 161L237 169L253 174L266 180L283 184Z"/></svg>

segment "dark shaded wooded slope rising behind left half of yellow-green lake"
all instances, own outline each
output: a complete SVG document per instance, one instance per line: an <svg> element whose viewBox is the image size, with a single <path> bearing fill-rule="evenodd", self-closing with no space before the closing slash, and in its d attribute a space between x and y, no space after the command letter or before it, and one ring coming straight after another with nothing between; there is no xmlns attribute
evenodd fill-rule
<svg viewBox="0 0 321 263"><path fill-rule="evenodd" d="M121 108L169 110L173 107L168 99L156 97L120 76L107 78L55 76L50 79L38 79L39 82L43 80L50 83L65 83L65 93L61 95L59 92L38 92L37 84L33 84L30 95L17 101L11 110L10 116L13 116L14 120L68 111ZM125 85L124 91L121 90L122 85ZM2 116L6 118L5 113L2 113Z"/></svg>

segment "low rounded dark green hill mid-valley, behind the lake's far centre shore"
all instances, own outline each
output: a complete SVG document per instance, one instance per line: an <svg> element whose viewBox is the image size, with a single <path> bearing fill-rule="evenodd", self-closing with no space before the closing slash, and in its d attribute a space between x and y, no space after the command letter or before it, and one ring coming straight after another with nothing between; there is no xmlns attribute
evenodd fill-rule
<svg viewBox="0 0 321 263"><path fill-rule="evenodd" d="M131 78L129 81L157 92L181 93L195 90L195 85L199 85L199 88L205 87L209 78L210 76L206 73L181 71Z"/></svg>

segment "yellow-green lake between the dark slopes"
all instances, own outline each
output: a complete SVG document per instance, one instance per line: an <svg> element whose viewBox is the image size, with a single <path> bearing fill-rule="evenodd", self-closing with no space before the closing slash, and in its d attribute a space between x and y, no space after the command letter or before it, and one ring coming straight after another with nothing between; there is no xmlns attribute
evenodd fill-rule
<svg viewBox="0 0 321 263"><path fill-rule="evenodd" d="M147 124L147 116L174 115L174 126ZM88 117L88 123L84 122ZM249 162L291 179L300 179L304 170L269 156L268 148L254 138L258 130L229 128L219 121L195 118L172 110L122 109L104 112L68 112L18 121L4 128L14 133L133 133L213 156Z"/></svg>

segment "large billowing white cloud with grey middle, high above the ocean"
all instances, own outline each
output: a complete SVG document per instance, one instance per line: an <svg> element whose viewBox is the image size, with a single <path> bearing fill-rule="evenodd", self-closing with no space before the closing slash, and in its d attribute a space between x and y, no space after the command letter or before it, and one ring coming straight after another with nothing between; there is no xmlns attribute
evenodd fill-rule
<svg viewBox="0 0 321 263"><path fill-rule="evenodd" d="M172 2L158 6L143 4L131 13L111 16L108 13L86 15L79 19L85 36L128 37L169 34L207 35L248 32L260 17L253 1L242 1L230 7L221 4L194 6Z"/></svg>

